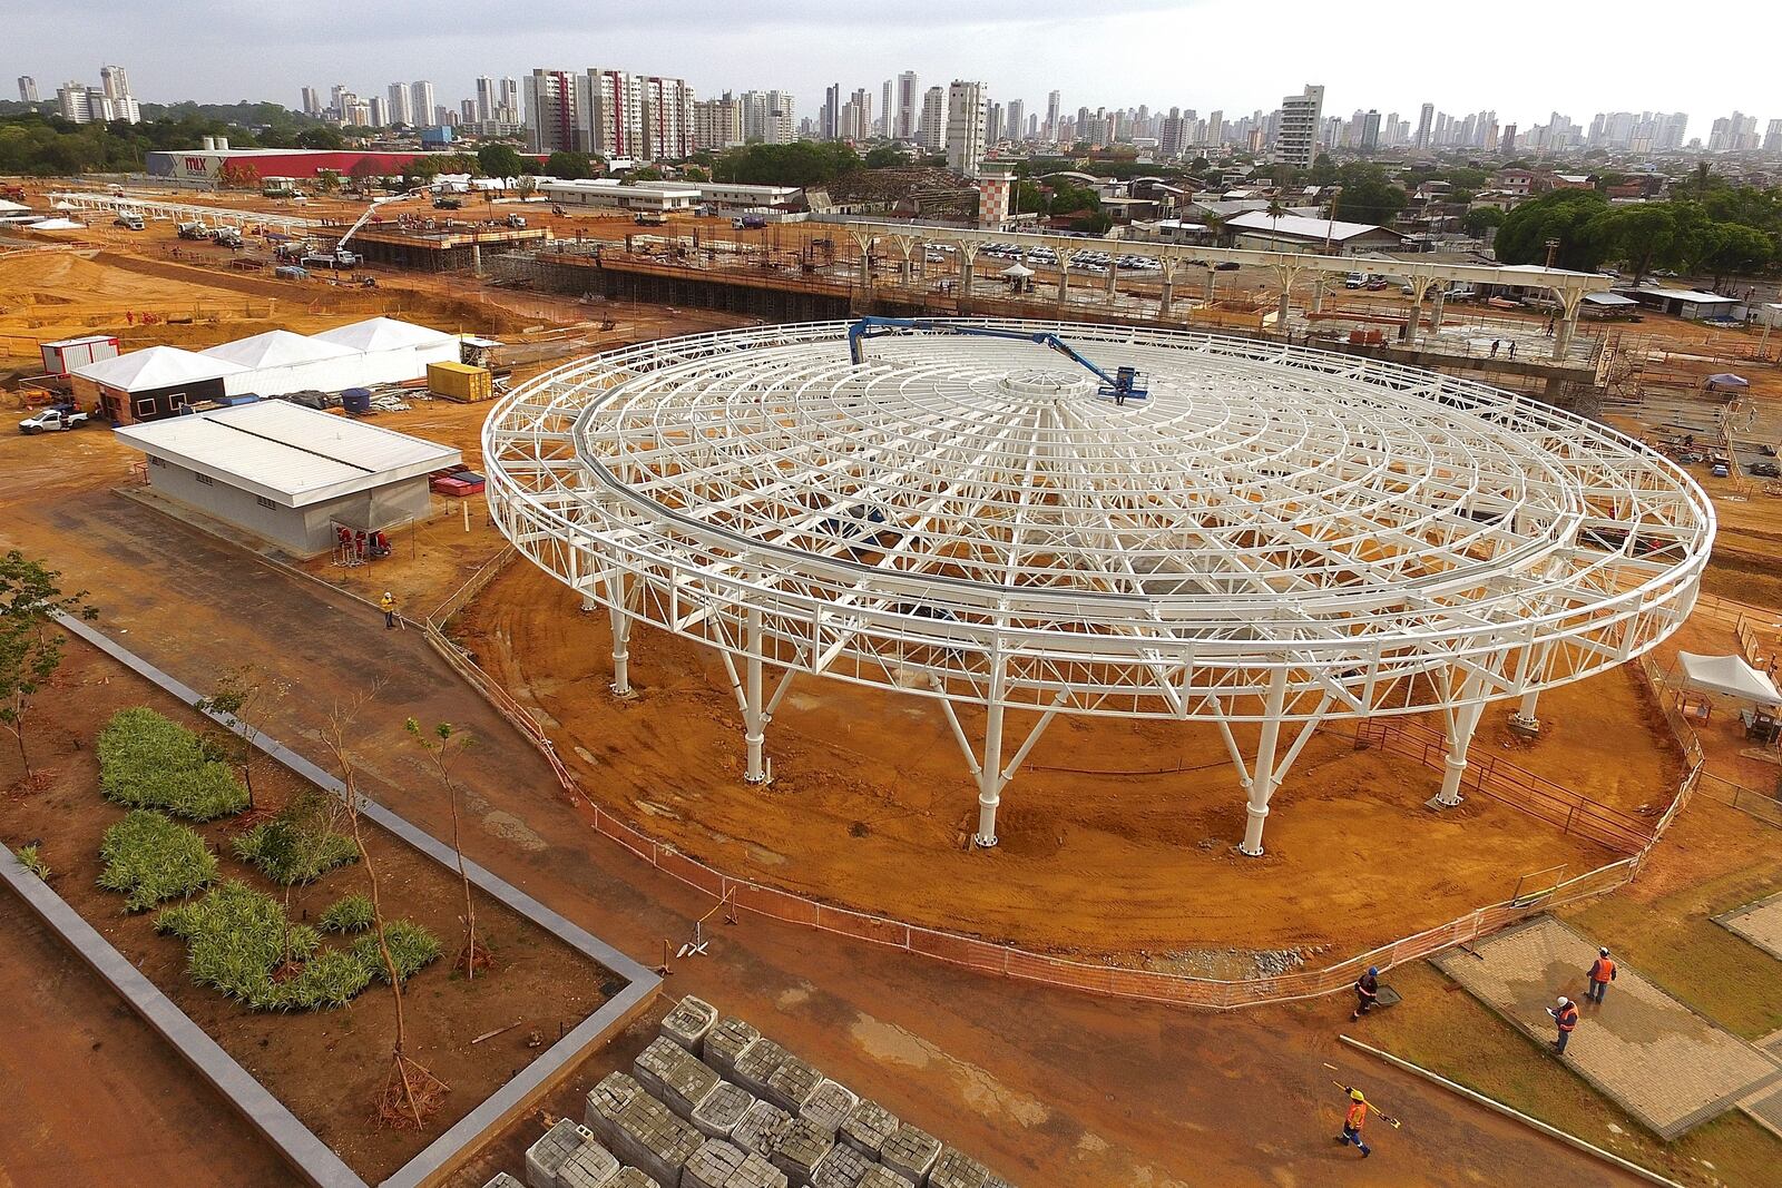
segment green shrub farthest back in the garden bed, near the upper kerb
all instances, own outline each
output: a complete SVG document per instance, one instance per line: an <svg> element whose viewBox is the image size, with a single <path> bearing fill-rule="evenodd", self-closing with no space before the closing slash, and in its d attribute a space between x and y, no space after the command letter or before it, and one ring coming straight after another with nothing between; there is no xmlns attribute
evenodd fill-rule
<svg viewBox="0 0 1782 1188"><path fill-rule="evenodd" d="M100 791L127 809L212 821L248 807L248 789L192 730L146 705L119 709L98 741Z"/></svg>

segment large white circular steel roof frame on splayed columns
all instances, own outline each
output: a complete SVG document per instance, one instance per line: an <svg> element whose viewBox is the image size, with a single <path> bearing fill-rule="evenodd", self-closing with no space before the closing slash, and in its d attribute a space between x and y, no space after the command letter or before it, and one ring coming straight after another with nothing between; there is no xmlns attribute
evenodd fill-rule
<svg viewBox="0 0 1782 1188"><path fill-rule="evenodd" d="M1435 372L977 321L873 328L854 362L848 330L670 338L552 370L485 426L490 506L608 607L618 691L636 622L723 654L750 780L795 673L939 698L980 844L1060 712L1215 723L1247 793L1246 853L1329 718L1443 711L1442 801L1458 803L1483 707L1522 698L1533 716L1541 688L1654 647L1713 543L1707 497L1663 456ZM1085 360L1135 367L1148 399L1108 399ZM960 704L985 711L982 739ZM1007 711L1035 720L1005 762ZM1251 755L1231 730L1246 721Z"/></svg>

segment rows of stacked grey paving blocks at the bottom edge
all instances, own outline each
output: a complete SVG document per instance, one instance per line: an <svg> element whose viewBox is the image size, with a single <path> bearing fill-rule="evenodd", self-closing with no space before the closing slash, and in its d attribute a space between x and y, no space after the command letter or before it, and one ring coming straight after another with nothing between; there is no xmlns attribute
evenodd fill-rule
<svg viewBox="0 0 1782 1188"><path fill-rule="evenodd" d="M486 1188L519 1188L501 1174ZM741 1019L684 997L526 1152L526 1188L1010 1188Z"/></svg>

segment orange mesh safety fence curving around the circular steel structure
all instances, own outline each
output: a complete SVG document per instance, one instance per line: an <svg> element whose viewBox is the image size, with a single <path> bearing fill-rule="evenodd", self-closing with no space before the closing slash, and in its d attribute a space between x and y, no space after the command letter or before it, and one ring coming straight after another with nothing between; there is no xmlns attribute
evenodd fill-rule
<svg viewBox="0 0 1782 1188"><path fill-rule="evenodd" d="M501 563L504 565L506 561ZM499 570L499 565L492 563L492 566ZM467 586L474 584L479 590L492 575L494 574L485 575L479 572L470 579L470 582L467 582ZM463 595L462 590L460 595ZM456 609L470 597L463 595L463 598L460 598L460 595L447 598L446 606L456 604L453 606L453 609ZM446 606L442 606L442 609L446 609ZM440 618L440 622L444 622L444 618ZM1390 969L1392 965L1431 956L1442 949L1452 948L1454 944L1477 940L1479 937L1490 935L1538 912L1622 887L1623 883L1632 882L1652 844L1686 801L1698 773L1698 768L1691 764L1689 773L1679 785L1677 798L1672 801L1670 809L1655 826L1647 826L1632 818L1625 818L1625 814L1616 814L1613 809L1597 805L1577 793L1570 793L1557 784L1541 780L1541 777L1513 768L1513 764L1502 764L1500 768L1493 768L1493 764L1481 764L1481 775L1475 777L1477 782L1470 785L1474 791L1481 791L1486 796L1506 801L1522 796L1529 805L1525 810L1534 812L1534 816L1541 816L1541 819L1552 819L1550 816L1543 816L1541 810L1536 810L1543 809L1545 812L1552 812L1543 807L1543 801L1563 803L1566 805L1566 816L1554 823L1581 835L1591 835L1591 830L1598 830L1604 835L1616 837L1623 844L1638 835L1639 846L1632 857L1611 862L1609 866L1586 875L1579 875L1577 878L1557 883L1556 887L1475 908L1456 921L1394 940L1392 944L1351 956L1326 969L1294 971L1271 978L1246 980L1198 978L1167 971L1099 965L1062 956L1048 956L1044 953L1030 953L1009 944L941 932L936 928L923 928L882 915L871 915L868 912L855 912L852 908L820 903L779 887L764 887L761 883L723 875L722 871L681 853L677 848L652 839L634 825L615 818L611 812L593 803L593 800L581 789L574 773L568 771L568 768L565 768L558 759L556 748L544 727L538 725L538 720L533 718L524 705L515 702L486 671L478 668L463 648L447 639L433 620L428 622L426 634L429 643L433 643L446 661L460 675L463 675L465 680L479 689L517 730L538 746L563 789L570 793L576 801L592 809L593 830L597 834L624 846L638 858L649 862L652 867L670 875L688 887L702 891L716 899L729 901L740 910L763 919L798 924L804 928L818 928L834 935L900 949L918 956L946 962L950 965L960 965L964 969L975 969L980 972L1000 974L1050 987L1107 994L1112 997L1205 1006L1215 1010L1287 1003L1331 994L1353 985L1369 965ZM1435 734L1427 728L1424 730L1426 734ZM1429 743L1411 741L1408 737L1410 734L1411 732L1406 730L1388 732L1388 746L1394 746L1394 750L1402 746L1402 753L1413 753L1415 757L1424 759ZM1424 761L1427 762L1427 759ZM1436 757L1436 762L1440 762L1440 757ZM1600 814L1597 814L1597 810L1600 810ZM1616 818L1622 819L1616 821Z"/></svg>

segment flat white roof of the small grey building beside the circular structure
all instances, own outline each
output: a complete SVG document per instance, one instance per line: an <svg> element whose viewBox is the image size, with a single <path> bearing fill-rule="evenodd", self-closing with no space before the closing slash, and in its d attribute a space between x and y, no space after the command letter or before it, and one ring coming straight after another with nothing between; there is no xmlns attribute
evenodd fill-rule
<svg viewBox="0 0 1782 1188"><path fill-rule="evenodd" d="M305 508L463 461L451 447L287 401L125 426L118 436L151 458L285 508Z"/></svg>

